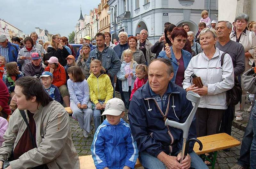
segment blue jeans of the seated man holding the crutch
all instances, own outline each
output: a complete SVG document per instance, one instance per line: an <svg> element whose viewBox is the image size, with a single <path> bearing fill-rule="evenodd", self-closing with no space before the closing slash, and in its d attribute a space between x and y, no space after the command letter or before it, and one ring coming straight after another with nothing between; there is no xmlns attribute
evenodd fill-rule
<svg viewBox="0 0 256 169"><path fill-rule="evenodd" d="M191 157L191 168L208 169L203 160L194 151L189 153L189 156ZM145 169L165 169L163 162L145 151L139 153L139 160Z"/></svg>

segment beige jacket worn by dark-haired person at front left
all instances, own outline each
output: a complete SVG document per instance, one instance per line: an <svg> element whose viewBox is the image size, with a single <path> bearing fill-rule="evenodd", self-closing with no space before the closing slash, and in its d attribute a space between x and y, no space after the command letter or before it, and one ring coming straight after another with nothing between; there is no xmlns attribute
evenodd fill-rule
<svg viewBox="0 0 256 169"><path fill-rule="evenodd" d="M26 116L28 120L27 113ZM11 161L11 167L26 169L47 164L49 169L79 169L79 159L71 139L69 117L65 108L59 102L51 101L47 106L41 106L33 117L36 123L37 148ZM11 156L26 128L20 111L16 109L4 134L5 142L0 148L0 160L5 161Z"/></svg>

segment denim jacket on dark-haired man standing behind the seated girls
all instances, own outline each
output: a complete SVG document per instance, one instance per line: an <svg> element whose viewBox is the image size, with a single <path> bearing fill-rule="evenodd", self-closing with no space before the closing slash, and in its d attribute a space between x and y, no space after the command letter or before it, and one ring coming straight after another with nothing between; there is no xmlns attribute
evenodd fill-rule
<svg viewBox="0 0 256 169"><path fill-rule="evenodd" d="M90 63L93 59L99 59L100 51L98 48L93 49L90 52L90 55L86 61L86 66L90 70ZM110 74L111 77L114 77L117 71L120 69L121 61L117 56L116 52L108 47L105 47L102 51L101 63L103 68L106 69L106 72Z"/></svg>

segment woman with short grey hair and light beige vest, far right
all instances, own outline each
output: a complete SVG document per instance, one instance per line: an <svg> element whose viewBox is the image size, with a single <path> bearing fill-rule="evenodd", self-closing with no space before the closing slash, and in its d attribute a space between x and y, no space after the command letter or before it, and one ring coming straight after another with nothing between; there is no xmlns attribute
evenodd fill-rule
<svg viewBox="0 0 256 169"><path fill-rule="evenodd" d="M233 33L230 34L230 40L233 40L235 42L239 42L244 46L244 52L245 52L245 71L249 70L251 68L251 65L254 61L254 52L256 49L256 36L254 32L250 32L246 30L246 26L249 22L249 16L240 13L235 18L235 26L236 29ZM243 81L241 80L241 84L243 84ZM242 115L244 114L244 104L245 104L245 96L246 91L244 90L244 87L242 85L242 102L241 105L238 103L235 106L235 116L236 121L242 121Z"/></svg>

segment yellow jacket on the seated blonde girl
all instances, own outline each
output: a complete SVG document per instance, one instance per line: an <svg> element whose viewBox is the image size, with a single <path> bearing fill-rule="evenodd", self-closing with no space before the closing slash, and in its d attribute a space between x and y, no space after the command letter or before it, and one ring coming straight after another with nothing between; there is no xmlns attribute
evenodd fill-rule
<svg viewBox="0 0 256 169"><path fill-rule="evenodd" d="M87 82L90 88L91 101L96 105L98 100L105 100L107 103L109 99L113 98L113 87L111 85L110 78L107 74L101 74L98 78L91 73Z"/></svg>

